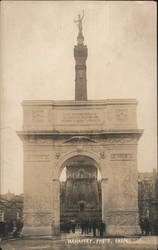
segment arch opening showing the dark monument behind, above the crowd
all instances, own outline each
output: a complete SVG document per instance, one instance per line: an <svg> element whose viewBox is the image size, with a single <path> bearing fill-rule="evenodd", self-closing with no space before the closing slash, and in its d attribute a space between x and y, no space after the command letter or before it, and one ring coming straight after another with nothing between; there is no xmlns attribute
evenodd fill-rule
<svg viewBox="0 0 158 250"><path fill-rule="evenodd" d="M89 156L75 155L63 162L60 172L60 231L71 225L88 224L102 218L101 173Z"/></svg>

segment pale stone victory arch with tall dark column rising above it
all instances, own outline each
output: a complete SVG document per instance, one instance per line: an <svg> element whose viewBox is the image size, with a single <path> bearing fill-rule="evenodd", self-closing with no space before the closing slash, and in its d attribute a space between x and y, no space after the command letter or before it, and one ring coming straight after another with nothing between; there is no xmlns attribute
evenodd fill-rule
<svg viewBox="0 0 158 250"><path fill-rule="evenodd" d="M79 18L75 100L23 101L24 235L60 234L60 181L67 162L86 158L100 170L108 235L139 233L135 99L87 100Z"/></svg>

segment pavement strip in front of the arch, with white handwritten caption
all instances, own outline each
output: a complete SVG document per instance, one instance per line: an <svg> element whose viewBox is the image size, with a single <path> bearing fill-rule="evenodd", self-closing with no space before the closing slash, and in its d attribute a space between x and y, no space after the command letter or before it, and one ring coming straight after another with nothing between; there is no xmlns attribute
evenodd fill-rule
<svg viewBox="0 0 158 250"><path fill-rule="evenodd" d="M158 236L139 237L93 237L61 234L60 237L21 237L2 240L0 250L158 250Z"/></svg>

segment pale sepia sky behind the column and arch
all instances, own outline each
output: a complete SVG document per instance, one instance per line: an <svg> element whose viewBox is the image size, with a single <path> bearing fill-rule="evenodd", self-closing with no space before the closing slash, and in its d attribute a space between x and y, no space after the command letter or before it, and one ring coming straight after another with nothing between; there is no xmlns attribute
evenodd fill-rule
<svg viewBox="0 0 158 250"><path fill-rule="evenodd" d="M1 192L23 192L23 100L72 100L84 9L88 99L136 98L138 170L156 168L156 3L1 2Z"/></svg>

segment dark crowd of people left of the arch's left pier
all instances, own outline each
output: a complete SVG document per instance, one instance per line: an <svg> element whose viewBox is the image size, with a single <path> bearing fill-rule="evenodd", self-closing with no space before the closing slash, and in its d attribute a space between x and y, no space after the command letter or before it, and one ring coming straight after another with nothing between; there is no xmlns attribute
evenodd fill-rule
<svg viewBox="0 0 158 250"><path fill-rule="evenodd" d="M23 222L18 220L0 221L0 239L8 239L8 237L19 237L23 228Z"/></svg>

